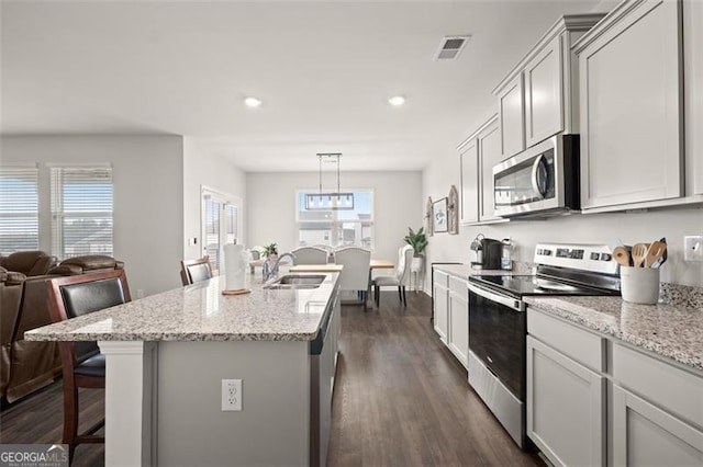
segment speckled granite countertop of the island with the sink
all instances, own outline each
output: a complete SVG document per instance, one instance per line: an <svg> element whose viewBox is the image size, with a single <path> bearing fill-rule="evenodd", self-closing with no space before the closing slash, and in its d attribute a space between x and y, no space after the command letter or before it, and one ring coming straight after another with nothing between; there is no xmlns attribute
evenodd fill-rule
<svg viewBox="0 0 703 467"><path fill-rule="evenodd" d="M311 341L338 280L310 289L222 295L224 277L197 283L24 333L27 341Z"/></svg>

